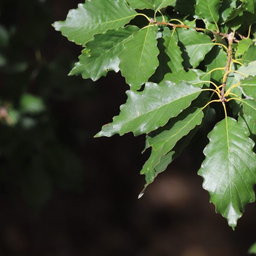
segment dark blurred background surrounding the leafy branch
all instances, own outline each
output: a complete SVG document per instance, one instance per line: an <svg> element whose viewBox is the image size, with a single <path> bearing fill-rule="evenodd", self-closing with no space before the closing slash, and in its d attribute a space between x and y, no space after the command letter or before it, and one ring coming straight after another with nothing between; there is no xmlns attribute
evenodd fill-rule
<svg viewBox="0 0 256 256"><path fill-rule="evenodd" d="M67 76L81 47L51 23L78 3L0 1L0 256L247 255L256 204L233 231L197 175L214 113L140 200L144 137L93 139L128 86Z"/></svg>

